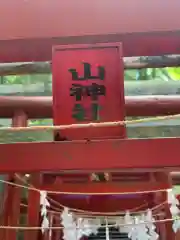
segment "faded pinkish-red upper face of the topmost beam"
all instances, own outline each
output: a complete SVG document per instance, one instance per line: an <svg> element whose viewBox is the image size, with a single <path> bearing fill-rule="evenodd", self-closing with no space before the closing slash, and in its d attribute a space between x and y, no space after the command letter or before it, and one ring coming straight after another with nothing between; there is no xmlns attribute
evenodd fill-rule
<svg viewBox="0 0 180 240"><path fill-rule="evenodd" d="M7 0L0 3L0 39L179 30L179 8L178 0Z"/></svg>

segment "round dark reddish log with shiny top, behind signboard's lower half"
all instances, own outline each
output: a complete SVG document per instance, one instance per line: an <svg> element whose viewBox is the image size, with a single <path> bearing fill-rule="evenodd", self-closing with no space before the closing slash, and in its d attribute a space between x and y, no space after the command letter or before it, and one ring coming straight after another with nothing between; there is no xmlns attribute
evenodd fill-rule
<svg viewBox="0 0 180 240"><path fill-rule="evenodd" d="M126 96L127 116L180 113L180 96ZM51 97L0 97L0 118L12 118L19 109L29 118L52 118Z"/></svg>

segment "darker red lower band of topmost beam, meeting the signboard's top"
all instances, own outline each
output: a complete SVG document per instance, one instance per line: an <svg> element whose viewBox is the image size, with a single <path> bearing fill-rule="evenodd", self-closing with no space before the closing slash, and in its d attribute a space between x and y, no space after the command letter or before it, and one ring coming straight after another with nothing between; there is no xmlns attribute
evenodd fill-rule
<svg viewBox="0 0 180 240"><path fill-rule="evenodd" d="M60 44L91 44L122 42L124 57L159 56L180 54L180 33L178 31L132 34L78 36L67 38L40 38L1 41L0 63L49 61L52 46ZM141 46L141 48L134 47Z"/></svg>

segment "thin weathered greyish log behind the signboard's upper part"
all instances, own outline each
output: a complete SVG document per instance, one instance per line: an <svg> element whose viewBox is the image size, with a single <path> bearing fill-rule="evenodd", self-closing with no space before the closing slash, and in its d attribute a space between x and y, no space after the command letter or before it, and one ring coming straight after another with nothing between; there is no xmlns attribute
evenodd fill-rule
<svg viewBox="0 0 180 240"><path fill-rule="evenodd" d="M124 58L124 69L163 68L180 66L179 55L147 57L141 59ZM51 62L26 62L0 64L0 76L21 74L47 74L51 73Z"/></svg>

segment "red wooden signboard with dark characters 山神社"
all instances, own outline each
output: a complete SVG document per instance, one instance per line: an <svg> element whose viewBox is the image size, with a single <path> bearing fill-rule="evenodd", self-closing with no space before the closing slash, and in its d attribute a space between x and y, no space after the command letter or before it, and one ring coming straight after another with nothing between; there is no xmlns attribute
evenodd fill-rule
<svg viewBox="0 0 180 240"><path fill-rule="evenodd" d="M122 121L125 114L121 44L53 48L53 113L55 125ZM125 128L61 131L63 139L124 137Z"/></svg>

